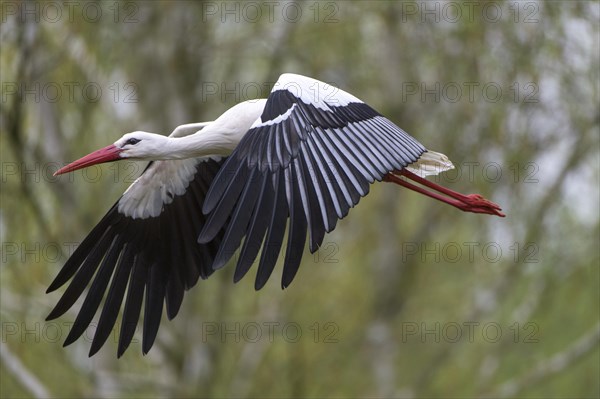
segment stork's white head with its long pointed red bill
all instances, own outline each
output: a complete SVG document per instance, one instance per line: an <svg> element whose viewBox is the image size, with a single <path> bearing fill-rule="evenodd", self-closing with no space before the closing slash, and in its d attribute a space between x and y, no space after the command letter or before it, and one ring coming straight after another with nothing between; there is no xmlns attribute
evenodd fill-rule
<svg viewBox="0 0 600 399"><path fill-rule="evenodd" d="M160 134L139 131L127 133L114 144L96 150L60 168L54 173L54 176L120 159L156 159L163 152L167 142L168 138Z"/></svg>

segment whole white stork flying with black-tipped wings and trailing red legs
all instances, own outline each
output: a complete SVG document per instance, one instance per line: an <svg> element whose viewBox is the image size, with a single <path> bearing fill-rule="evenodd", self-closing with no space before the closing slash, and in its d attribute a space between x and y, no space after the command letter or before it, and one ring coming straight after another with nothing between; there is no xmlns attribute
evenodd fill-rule
<svg viewBox="0 0 600 399"><path fill-rule="evenodd" d="M131 343L142 304L147 353L163 306L174 318L184 292L223 267L240 246L234 281L261 252L255 288L262 288L284 245L286 225L281 285L287 287L307 238L315 252L375 181L397 183L463 211L504 216L480 195L459 194L424 178L453 168L445 155L427 150L353 95L289 73L266 100L240 103L214 122L179 126L169 137L127 133L55 175L120 159L151 162L48 288L71 280L47 317L52 320L91 283L65 346L85 331L104 298L90 356L110 335L123 301L117 355Z"/></svg>

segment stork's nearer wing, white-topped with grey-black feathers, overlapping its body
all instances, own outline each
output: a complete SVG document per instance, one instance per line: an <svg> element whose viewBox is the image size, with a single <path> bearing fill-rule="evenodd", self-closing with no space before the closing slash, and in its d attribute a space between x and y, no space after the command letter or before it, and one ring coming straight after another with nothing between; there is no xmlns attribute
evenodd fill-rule
<svg viewBox="0 0 600 399"><path fill-rule="evenodd" d="M261 117L206 196L200 242L226 227L214 268L241 248L235 281L262 247L255 288L273 271L289 219L282 287L294 278L307 232L316 251L369 185L416 162L425 147L353 95L300 75L281 75ZM227 226L227 222L231 221Z"/></svg>

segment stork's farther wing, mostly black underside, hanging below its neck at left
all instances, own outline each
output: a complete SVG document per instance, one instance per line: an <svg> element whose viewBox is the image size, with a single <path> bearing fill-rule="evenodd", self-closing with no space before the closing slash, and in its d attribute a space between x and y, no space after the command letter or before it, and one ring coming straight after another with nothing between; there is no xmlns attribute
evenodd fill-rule
<svg viewBox="0 0 600 399"><path fill-rule="evenodd" d="M125 299L118 356L131 343L144 301L142 350L150 350L163 304L172 319L184 291L214 270L223 231L206 244L197 238L206 218L204 197L223 162L205 157L150 163L94 227L48 288L54 291L71 279L47 318L52 320L71 308L91 282L65 345L85 331L104 298L90 356L96 353L115 326Z"/></svg>

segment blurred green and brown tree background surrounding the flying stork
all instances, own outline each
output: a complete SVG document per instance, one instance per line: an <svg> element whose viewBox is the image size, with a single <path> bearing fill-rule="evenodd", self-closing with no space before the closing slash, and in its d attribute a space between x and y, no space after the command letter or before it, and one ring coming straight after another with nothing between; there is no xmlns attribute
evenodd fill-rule
<svg viewBox="0 0 600 399"><path fill-rule="evenodd" d="M2 397L598 397L600 5L1 3ZM121 134L266 97L283 72L350 91L500 203L465 214L377 183L255 292L200 281L157 343L62 348L66 256L141 171L52 177ZM280 266L280 265L279 265ZM252 273L251 273L252 274ZM139 333L139 331L138 331Z"/></svg>

